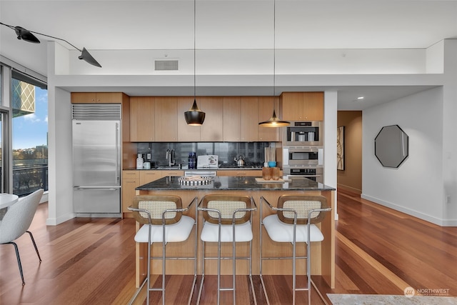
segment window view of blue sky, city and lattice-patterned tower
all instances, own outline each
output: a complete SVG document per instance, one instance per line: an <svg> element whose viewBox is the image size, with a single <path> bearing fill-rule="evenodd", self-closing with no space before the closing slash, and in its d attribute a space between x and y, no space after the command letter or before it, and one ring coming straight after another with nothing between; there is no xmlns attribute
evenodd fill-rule
<svg viewBox="0 0 457 305"><path fill-rule="evenodd" d="M48 91L13 80L13 193L48 190Z"/></svg>

